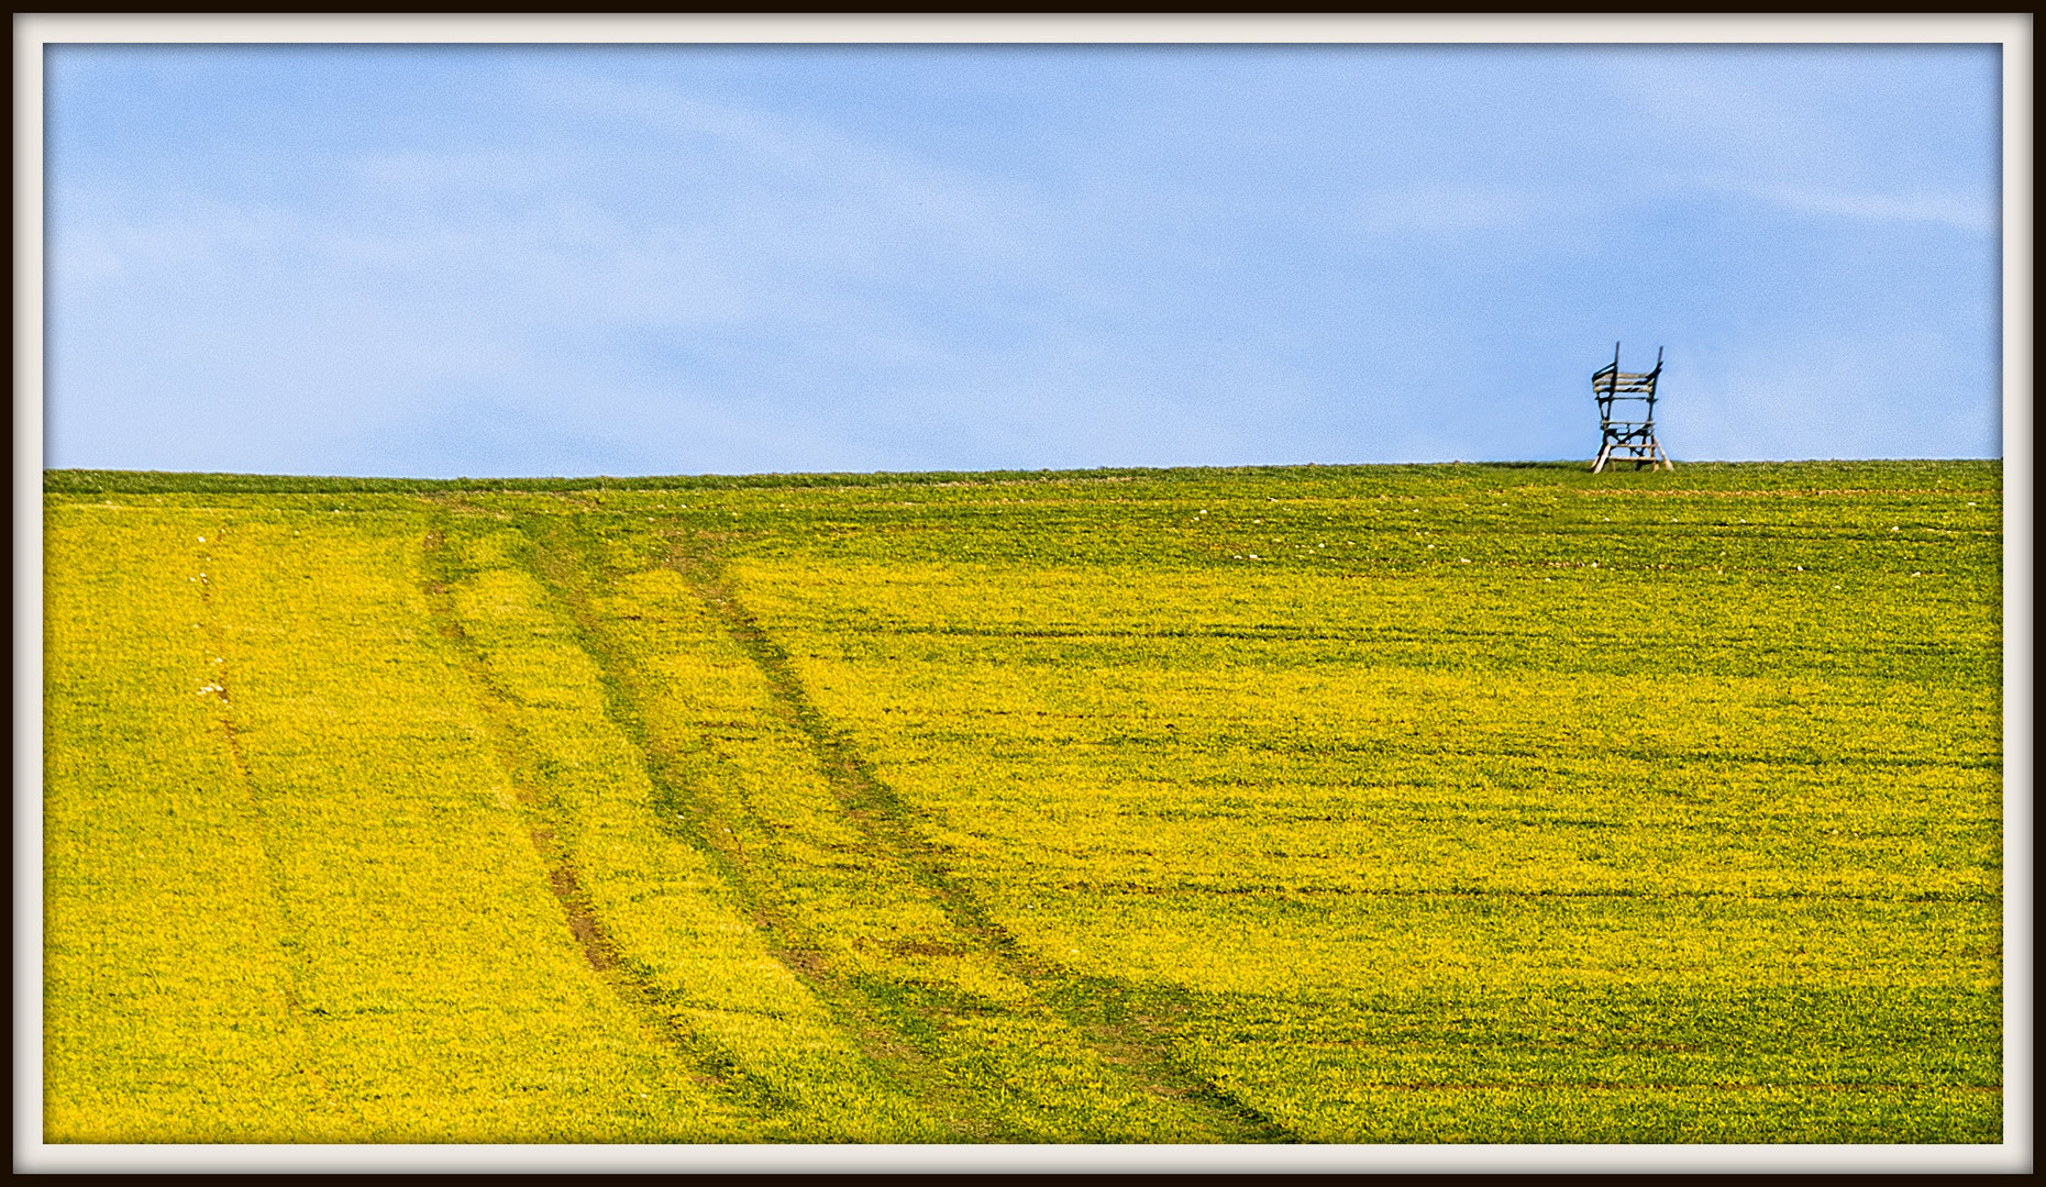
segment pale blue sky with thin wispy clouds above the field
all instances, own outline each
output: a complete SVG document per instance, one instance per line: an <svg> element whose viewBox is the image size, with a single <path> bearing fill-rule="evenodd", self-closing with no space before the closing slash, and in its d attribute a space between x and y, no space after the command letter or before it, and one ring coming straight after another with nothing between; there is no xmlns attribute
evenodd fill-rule
<svg viewBox="0 0 2046 1187"><path fill-rule="evenodd" d="M1999 456L1999 57L45 55L45 465Z"/></svg>

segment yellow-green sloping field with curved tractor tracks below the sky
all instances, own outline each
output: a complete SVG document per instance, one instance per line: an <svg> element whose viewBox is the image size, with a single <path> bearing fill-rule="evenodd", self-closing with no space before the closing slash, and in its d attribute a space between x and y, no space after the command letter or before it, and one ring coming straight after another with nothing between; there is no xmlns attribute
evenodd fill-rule
<svg viewBox="0 0 2046 1187"><path fill-rule="evenodd" d="M1997 463L45 477L49 1142L2001 1142Z"/></svg>

